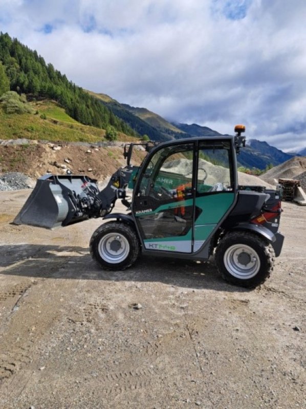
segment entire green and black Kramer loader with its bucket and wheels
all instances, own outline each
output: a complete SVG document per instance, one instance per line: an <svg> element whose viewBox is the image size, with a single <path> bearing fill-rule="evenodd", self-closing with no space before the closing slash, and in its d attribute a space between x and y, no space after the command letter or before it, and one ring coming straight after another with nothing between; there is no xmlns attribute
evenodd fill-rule
<svg viewBox="0 0 306 409"><path fill-rule="evenodd" d="M281 197L278 189L238 185L236 153L246 144L245 127L235 132L127 144L127 165L101 191L87 176L42 176L14 223L52 229L102 217L107 222L90 240L102 269L124 270L140 253L194 261L213 255L225 280L256 287L281 252ZM148 152L139 167L130 164L135 145ZM127 188L133 189L130 201ZM127 213L111 213L117 199Z"/></svg>

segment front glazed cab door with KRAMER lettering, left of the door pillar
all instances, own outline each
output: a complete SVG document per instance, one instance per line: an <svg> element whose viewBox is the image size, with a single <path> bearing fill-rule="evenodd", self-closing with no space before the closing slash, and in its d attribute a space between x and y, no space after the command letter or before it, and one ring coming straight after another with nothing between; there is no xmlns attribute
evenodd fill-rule
<svg viewBox="0 0 306 409"><path fill-rule="evenodd" d="M142 170L132 212L144 248L192 252L194 151L193 142L161 147Z"/></svg>

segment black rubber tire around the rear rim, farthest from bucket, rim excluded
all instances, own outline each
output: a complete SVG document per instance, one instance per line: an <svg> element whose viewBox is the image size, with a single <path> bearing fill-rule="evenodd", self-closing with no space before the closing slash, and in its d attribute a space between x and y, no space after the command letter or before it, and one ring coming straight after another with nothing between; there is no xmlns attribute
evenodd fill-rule
<svg viewBox="0 0 306 409"><path fill-rule="evenodd" d="M248 245L256 252L260 267L257 274L250 279L239 279L234 277L226 268L224 255L229 247L234 244ZM254 288L263 284L274 268L275 253L272 245L260 236L246 231L235 231L227 233L220 241L215 251L215 262L222 277L227 282L245 288Z"/></svg>

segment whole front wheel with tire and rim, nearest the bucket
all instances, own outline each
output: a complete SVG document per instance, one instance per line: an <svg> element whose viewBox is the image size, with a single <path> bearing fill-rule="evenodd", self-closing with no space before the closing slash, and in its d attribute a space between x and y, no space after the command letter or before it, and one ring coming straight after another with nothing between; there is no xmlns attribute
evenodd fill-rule
<svg viewBox="0 0 306 409"><path fill-rule="evenodd" d="M102 224L90 240L93 259L105 270L125 270L135 263L140 244L136 231L126 223Z"/></svg>

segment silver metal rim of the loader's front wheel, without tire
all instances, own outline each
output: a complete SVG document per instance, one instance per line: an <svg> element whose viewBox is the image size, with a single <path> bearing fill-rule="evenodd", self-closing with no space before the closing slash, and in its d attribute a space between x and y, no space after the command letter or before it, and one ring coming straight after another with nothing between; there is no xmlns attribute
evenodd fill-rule
<svg viewBox="0 0 306 409"><path fill-rule="evenodd" d="M128 256L129 243L120 233L108 233L100 240L98 252L107 263L120 263Z"/></svg>

